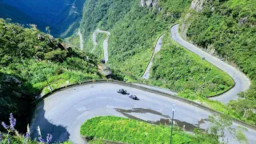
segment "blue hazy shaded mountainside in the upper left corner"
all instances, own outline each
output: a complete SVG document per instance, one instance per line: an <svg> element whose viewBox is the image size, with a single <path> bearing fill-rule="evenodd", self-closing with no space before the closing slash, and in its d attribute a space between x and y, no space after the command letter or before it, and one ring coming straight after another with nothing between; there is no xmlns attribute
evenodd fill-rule
<svg viewBox="0 0 256 144"><path fill-rule="evenodd" d="M78 28L84 2L84 0L1 0L0 7L7 7L3 7L4 13L0 13L0 18L11 18L14 22L22 24L33 23L42 31L46 26L50 26L51 34L54 36L67 37ZM21 15L17 17L17 14Z"/></svg>

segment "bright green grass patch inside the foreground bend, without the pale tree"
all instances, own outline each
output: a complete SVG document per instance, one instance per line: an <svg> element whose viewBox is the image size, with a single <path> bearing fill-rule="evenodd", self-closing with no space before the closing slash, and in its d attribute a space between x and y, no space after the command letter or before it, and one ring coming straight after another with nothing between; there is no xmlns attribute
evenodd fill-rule
<svg viewBox="0 0 256 144"><path fill-rule="evenodd" d="M198 131L198 130L196 130ZM87 120L81 127L80 133L88 138L102 138L113 142L128 143L169 143L170 126L150 125L128 118L112 116L96 117ZM186 134L174 127L172 141L178 143L218 143L218 138L208 134ZM100 142L99 142L100 143Z"/></svg>

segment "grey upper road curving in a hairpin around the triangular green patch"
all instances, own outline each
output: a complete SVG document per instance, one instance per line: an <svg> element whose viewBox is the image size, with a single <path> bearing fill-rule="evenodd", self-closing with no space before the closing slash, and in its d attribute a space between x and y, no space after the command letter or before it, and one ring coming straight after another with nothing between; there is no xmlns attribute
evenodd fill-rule
<svg viewBox="0 0 256 144"><path fill-rule="evenodd" d="M246 77L241 71L237 70L233 66L223 62L222 60L215 58L214 56L206 53L197 46L190 44L189 42L184 41L181 36L178 34L178 25L174 25L171 28L171 38L174 41L178 42L180 45L184 46L187 50L192 51L194 54L198 54L200 57L205 58L206 61L212 63L214 66L217 66L219 69L225 71L234 79L235 86L231 90L227 91L225 94L222 94L218 97L211 98L217 100L218 102L227 103L230 100L238 99L238 94L242 91L246 91L250 88L250 79Z"/></svg>

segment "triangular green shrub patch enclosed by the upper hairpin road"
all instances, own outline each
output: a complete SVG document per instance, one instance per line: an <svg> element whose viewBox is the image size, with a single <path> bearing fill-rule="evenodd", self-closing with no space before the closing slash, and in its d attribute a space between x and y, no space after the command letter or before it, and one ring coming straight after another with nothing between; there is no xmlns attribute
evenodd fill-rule
<svg viewBox="0 0 256 144"><path fill-rule="evenodd" d="M155 55L150 82L196 99L220 94L234 86L232 78L201 57L170 40L162 39L162 50Z"/></svg>

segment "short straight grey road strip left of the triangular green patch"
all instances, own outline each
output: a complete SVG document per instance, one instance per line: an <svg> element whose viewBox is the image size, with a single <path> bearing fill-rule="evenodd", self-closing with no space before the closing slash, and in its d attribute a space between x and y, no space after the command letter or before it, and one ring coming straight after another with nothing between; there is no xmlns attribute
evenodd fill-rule
<svg viewBox="0 0 256 144"><path fill-rule="evenodd" d="M158 51L161 50L161 47L162 47L162 38L163 38L164 35L165 35L165 34L162 34L162 36L161 36L160 38L158 38L158 42L157 42L157 44L156 44L155 47L154 47L154 53L153 53L152 57L150 58L150 63L149 63L149 65L146 67L146 70L145 70L145 72L144 72L144 74L143 74L143 76L142 76L142 78L144 78L144 79L150 78L150 68L151 68L152 65L153 65L154 54L157 54Z"/></svg>

